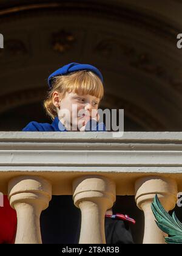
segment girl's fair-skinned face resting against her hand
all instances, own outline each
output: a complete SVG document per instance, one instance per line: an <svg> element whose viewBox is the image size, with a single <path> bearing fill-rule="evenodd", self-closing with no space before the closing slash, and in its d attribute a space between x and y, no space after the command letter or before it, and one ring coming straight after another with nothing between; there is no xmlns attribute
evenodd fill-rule
<svg viewBox="0 0 182 256"><path fill-rule="evenodd" d="M99 98L90 94L81 95L66 92L65 97L59 101L59 120L66 127L70 126L70 130L84 130L90 119L95 118L98 121L99 101Z"/></svg>

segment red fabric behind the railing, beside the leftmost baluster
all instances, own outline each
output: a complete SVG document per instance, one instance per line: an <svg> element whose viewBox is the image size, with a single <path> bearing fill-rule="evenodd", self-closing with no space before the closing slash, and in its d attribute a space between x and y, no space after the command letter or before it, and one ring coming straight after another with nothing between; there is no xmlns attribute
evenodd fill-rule
<svg viewBox="0 0 182 256"><path fill-rule="evenodd" d="M8 197L4 196L4 207L0 207L0 244L15 243L16 211L10 206Z"/></svg>

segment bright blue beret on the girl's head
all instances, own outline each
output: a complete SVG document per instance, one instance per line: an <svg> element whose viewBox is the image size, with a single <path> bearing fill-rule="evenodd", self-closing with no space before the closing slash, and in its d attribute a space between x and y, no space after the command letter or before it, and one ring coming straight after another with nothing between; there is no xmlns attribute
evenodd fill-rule
<svg viewBox="0 0 182 256"><path fill-rule="evenodd" d="M70 63L65 66L62 66L61 68L59 68L58 70L56 70L49 76L49 78L48 78L49 87L50 88L52 87L53 77L64 76L66 74L69 74L69 73L72 73L75 71L79 71L79 70L90 70L93 73L95 73L103 82L103 76L102 76L101 72L97 68L95 68L95 66L92 66L89 64Z"/></svg>

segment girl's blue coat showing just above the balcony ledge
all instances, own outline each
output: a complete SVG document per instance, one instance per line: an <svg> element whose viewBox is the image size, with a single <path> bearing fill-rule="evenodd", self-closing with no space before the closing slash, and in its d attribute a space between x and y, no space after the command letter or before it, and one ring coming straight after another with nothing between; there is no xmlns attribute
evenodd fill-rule
<svg viewBox="0 0 182 256"><path fill-rule="evenodd" d="M106 131L106 126L104 123L96 123L96 130L90 130L95 132L104 132ZM90 126L91 127L91 126ZM86 130L89 132L89 130ZM22 132L68 132L66 128L63 126L61 121L59 121L58 116L55 117L52 124L49 123L38 123L36 121L32 121L27 126L22 129Z"/></svg>

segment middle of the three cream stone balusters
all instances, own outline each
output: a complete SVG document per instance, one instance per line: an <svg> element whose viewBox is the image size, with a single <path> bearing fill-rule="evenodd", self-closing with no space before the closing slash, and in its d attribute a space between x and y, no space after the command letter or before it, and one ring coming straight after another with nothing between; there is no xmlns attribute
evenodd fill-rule
<svg viewBox="0 0 182 256"><path fill-rule="evenodd" d="M81 210L80 244L105 244L104 216L116 200L115 183L103 176L73 182L73 201Z"/></svg>

